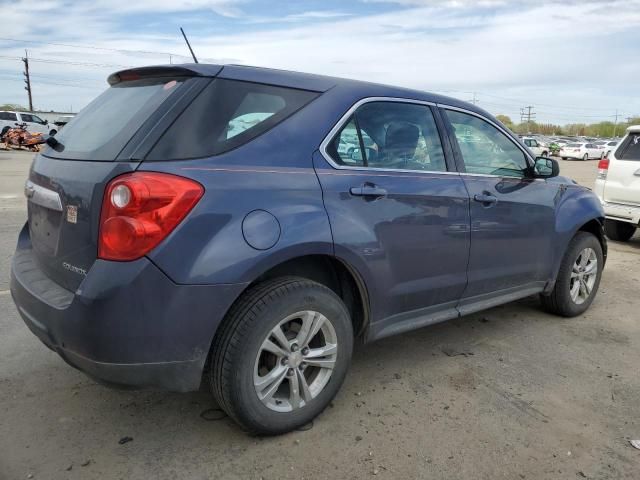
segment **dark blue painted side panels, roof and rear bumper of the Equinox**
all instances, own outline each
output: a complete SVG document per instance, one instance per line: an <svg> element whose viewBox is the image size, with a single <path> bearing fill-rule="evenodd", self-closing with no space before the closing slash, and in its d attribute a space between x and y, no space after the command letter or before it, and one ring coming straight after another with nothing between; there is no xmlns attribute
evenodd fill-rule
<svg viewBox="0 0 640 480"><path fill-rule="evenodd" d="M124 171L181 175L202 184L205 194L147 257L96 260L86 278L76 280L79 287L68 286L64 308L34 292L29 274L14 261L11 290L26 323L69 363L102 380L196 389L228 308L252 282L291 259L326 255L343 262L363 284L369 312L365 339L373 340L548 290L575 232L604 217L591 192L562 178L339 170L319 151L336 122L364 98L443 104L499 123L474 105L292 72L181 68L324 93L257 139L221 155L102 167L109 170L95 180L92 204L84 209L94 225L104 186ZM448 140L443 147L447 164L454 166ZM56 162L38 156L34 174ZM387 197L349 194L365 182L385 188ZM498 196L498 204L487 208L472 201L478 192ZM277 235L275 224L261 216L268 225L261 237L251 226L255 211L276 220ZM95 244L97 230L93 235ZM31 248L25 228L18 252L27 258Z"/></svg>

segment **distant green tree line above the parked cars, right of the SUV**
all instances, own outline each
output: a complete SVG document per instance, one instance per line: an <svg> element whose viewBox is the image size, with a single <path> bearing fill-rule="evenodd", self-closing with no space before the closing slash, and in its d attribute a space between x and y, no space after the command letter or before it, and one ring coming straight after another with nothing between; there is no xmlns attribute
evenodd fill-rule
<svg viewBox="0 0 640 480"><path fill-rule="evenodd" d="M577 135L585 137L621 137L630 125L640 125L640 117L628 119L626 122L569 123L555 125L552 123L523 122L513 123L507 115L496 115L507 128L518 134L538 133L541 135Z"/></svg>

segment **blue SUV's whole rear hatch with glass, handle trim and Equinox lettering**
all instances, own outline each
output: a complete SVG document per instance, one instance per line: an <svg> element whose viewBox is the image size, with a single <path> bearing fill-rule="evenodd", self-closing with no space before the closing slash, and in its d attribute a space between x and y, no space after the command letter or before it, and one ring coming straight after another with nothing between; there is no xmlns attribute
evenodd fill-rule
<svg viewBox="0 0 640 480"><path fill-rule="evenodd" d="M25 185L29 235L33 260L51 280L72 291L82 283L97 258L105 186L137 168L140 149L210 81L201 77L220 70L206 68L146 67L110 76L110 88L34 159Z"/></svg>

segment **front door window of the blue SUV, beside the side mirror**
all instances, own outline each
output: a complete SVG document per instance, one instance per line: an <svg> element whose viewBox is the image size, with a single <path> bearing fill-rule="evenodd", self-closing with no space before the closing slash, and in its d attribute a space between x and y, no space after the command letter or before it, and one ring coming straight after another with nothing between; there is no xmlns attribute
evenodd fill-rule
<svg viewBox="0 0 640 480"><path fill-rule="evenodd" d="M524 152L507 135L474 115L446 110L467 173L524 177Z"/></svg>

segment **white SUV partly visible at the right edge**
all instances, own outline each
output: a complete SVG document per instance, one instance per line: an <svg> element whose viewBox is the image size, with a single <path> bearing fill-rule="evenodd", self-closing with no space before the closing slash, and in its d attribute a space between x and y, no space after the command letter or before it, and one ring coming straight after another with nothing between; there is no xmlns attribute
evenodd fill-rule
<svg viewBox="0 0 640 480"><path fill-rule="evenodd" d="M620 146L600 160L594 192L604 207L607 236L629 240L640 225L640 125L627 128Z"/></svg>

